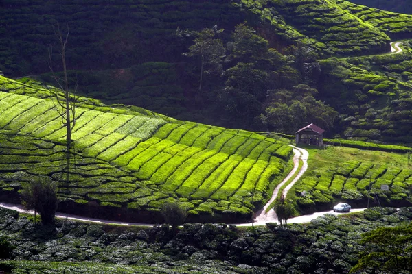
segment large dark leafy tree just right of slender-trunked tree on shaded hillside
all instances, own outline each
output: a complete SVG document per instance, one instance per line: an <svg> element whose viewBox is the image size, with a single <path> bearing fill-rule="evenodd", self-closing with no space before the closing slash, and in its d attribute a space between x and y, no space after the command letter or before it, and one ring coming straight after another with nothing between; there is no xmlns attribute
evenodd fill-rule
<svg viewBox="0 0 412 274"><path fill-rule="evenodd" d="M236 25L227 53L225 87L218 99L231 126L251 125L264 109L267 91L277 86L277 70L285 60L246 23Z"/></svg>

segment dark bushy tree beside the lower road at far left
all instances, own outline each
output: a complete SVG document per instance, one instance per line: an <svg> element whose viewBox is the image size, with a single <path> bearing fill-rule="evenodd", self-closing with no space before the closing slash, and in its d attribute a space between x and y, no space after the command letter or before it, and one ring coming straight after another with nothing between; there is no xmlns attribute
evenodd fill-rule
<svg viewBox="0 0 412 274"><path fill-rule="evenodd" d="M55 183L43 178L38 179L23 184L20 194L24 208L38 212L43 225L54 223L54 215L59 203Z"/></svg>

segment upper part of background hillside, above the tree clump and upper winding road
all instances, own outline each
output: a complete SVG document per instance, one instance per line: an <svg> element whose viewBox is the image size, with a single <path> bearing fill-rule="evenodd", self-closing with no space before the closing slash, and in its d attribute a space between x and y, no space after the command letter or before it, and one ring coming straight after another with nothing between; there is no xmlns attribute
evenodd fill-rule
<svg viewBox="0 0 412 274"><path fill-rule="evenodd" d="M382 52L389 49L390 38L411 33L412 29L411 16L341 0L23 3L24 8L15 1L0 3L0 71L6 75L48 71L47 49L56 42L53 27L58 21L66 22L70 29L67 58L73 69L179 62L190 41L176 36L176 29L199 30L218 25L232 30L236 24L249 21L273 47L300 43L312 45L323 55ZM378 19L385 24L375 24L376 18L365 18L364 14L371 12L379 12Z"/></svg>

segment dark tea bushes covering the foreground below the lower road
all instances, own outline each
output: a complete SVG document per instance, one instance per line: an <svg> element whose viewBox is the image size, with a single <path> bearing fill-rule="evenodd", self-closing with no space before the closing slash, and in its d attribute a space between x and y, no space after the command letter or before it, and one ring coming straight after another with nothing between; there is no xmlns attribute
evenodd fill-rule
<svg viewBox="0 0 412 274"><path fill-rule="evenodd" d="M0 271L11 273L93 273L98 266L100 273L348 273L366 251L378 251L365 232L412 220L411 208L371 208L286 228L186 224L176 234L168 225L58 220L56 227L34 226L32 217L0 212L0 236L14 246ZM373 267L359 269L376 273Z"/></svg>

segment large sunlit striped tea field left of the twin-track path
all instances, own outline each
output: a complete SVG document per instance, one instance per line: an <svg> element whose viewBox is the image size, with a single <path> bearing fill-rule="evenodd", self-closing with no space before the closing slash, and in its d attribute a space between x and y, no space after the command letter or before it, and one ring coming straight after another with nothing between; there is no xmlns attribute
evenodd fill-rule
<svg viewBox="0 0 412 274"><path fill-rule="evenodd" d="M191 216L244 219L288 169L291 148L259 134L80 103L66 184L66 129L54 103L27 96L36 94L30 86L4 82L0 87L9 92L0 92L3 192L47 176L59 182L60 197L78 204L157 212L177 200ZM38 91L49 97L47 90Z"/></svg>

